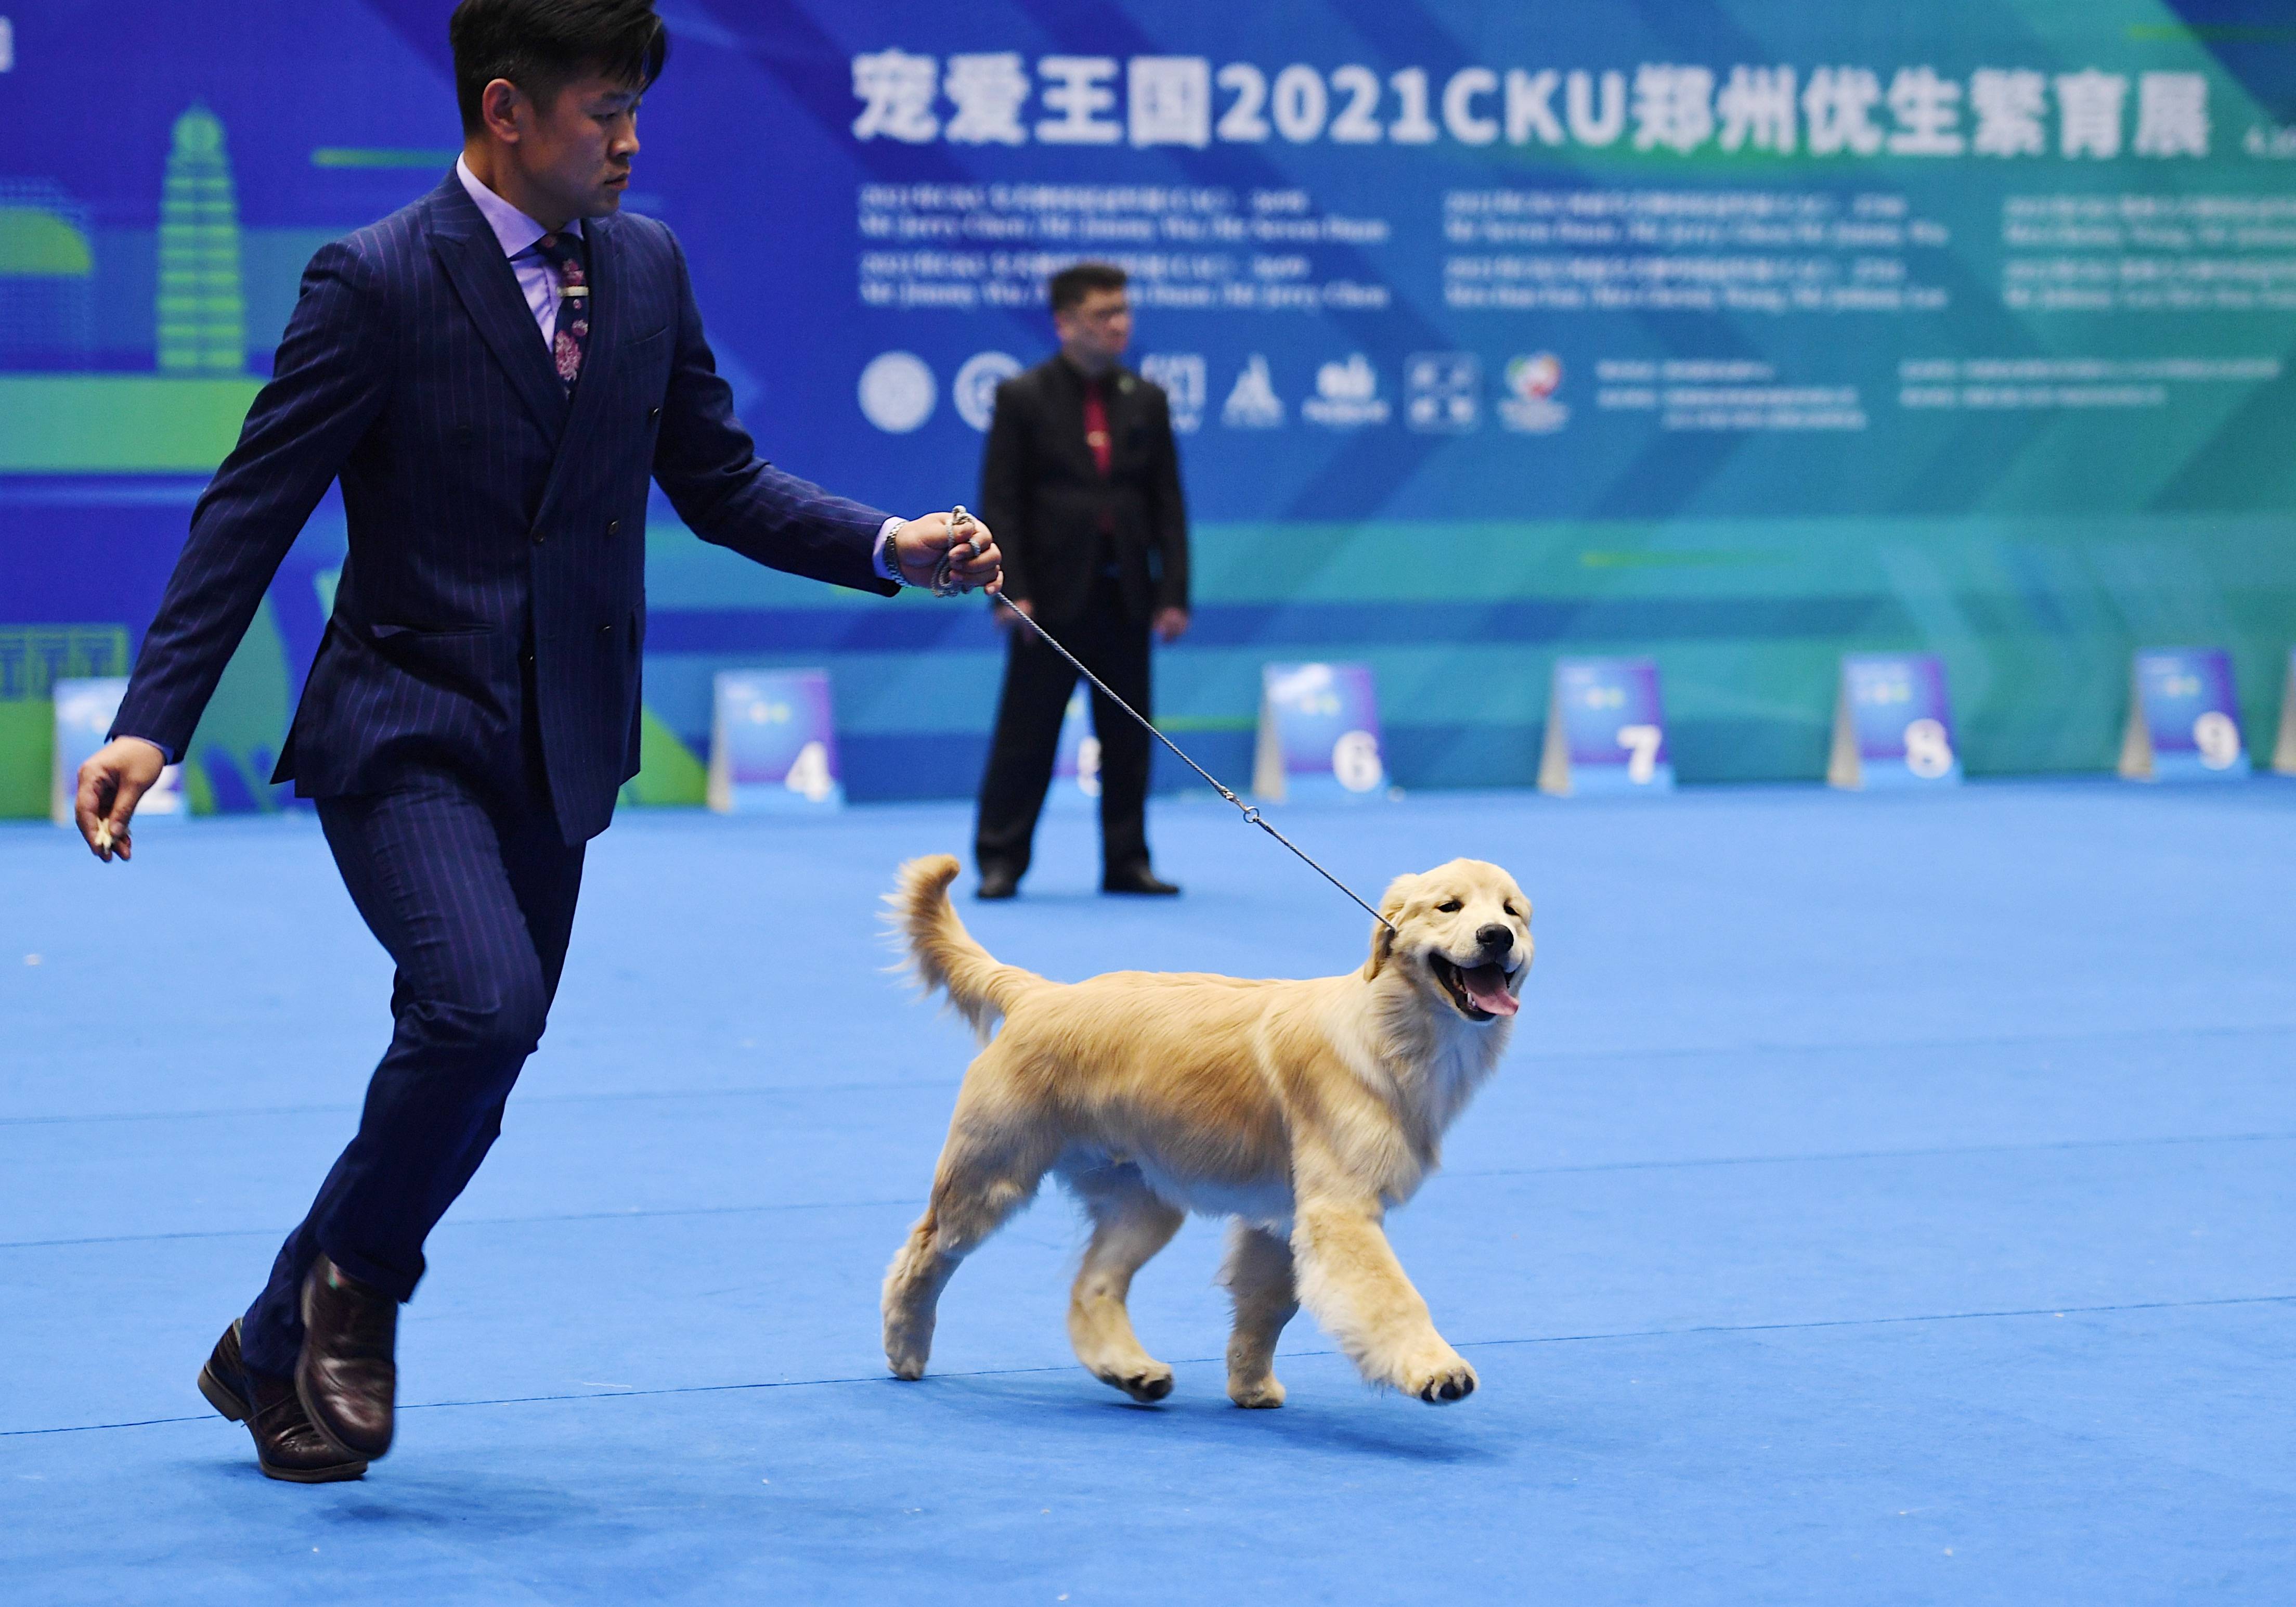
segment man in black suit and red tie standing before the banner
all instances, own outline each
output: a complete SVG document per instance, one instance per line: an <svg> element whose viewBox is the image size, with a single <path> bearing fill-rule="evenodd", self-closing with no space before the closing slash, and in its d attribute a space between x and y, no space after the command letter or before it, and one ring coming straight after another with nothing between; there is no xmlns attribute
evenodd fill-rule
<svg viewBox="0 0 2296 1607"><path fill-rule="evenodd" d="M980 514L999 530L1003 588L1118 698L1150 714L1148 636L1187 631L1187 505L1164 393L1123 367L1132 305L1123 269L1079 262L1052 275L1061 351L996 386L980 459ZM1010 627L996 737L980 778L974 859L980 898L1013 898L1029 870L1075 668ZM1148 865L1148 744L1093 691L1100 737L1100 886L1178 893Z"/></svg>

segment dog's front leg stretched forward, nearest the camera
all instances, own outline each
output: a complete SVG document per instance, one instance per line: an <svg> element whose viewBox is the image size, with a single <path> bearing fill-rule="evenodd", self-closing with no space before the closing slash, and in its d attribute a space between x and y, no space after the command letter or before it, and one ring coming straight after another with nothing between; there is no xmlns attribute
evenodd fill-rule
<svg viewBox="0 0 2296 1607"><path fill-rule="evenodd" d="M1375 1198L1302 1194L1293 1217L1300 1304L1373 1384L1446 1405L1474 1393L1474 1368L1444 1343L1403 1276Z"/></svg>

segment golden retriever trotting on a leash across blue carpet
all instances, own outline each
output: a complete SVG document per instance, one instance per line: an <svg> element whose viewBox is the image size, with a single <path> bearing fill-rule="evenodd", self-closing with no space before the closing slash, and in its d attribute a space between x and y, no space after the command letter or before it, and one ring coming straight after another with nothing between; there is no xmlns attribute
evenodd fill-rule
<svg viewBox="0 0 2296 1607"><path fill-rule="evenodd" d="M1513 877L1476 859L1396 877L1371 957L1348 976L1063 985L974 941L948 907L955 875L946 854L916 859L886 898L916 978L946 989L985 1045L932 1203L884 1279L893 1373L925 1375L957 1263L1049 1171L1093 1221L1070 1343L1134 1400L1171 1393L1171 1368L1132 1334L1132 1274L1192 1210L1233 1219L1219 1281L1235 1302L1235 1405L1283 1405L1274 1350L1300 1306L1371 1384L1430 1405L1474 1393L1380 1224L1435 1171L1444 1129L1506 1051L1531 964L1531 902Z"/></svg>

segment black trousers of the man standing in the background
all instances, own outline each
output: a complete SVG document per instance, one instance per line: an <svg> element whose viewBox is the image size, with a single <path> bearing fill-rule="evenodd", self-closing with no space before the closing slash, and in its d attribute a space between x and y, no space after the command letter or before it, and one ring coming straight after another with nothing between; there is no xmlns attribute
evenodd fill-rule
<svg viewBox="0 0 2296 1607"><path fill-rule="evenodd" d="M1084 659L1118 698L1146 716L1148 700L1148 620L1125 608L1123 590L1111 576L1093 588L1084 615L1047 627ZM980 822L974 833L974 861L987 870L1001 865L1015 877L1029 870L1029 845L1035 817L1045 808L1052 764L1061 751L1061 716L1077 670L1047 647L1035 631L1015 622L1006 645L1003 696L996 700L996 737L990 742L990 767L980 776ZM1107 872L1148 865L1148 744L1150 737L1130 714L1093 691L1093 735L1100 739L1100 861Z"/></svg>

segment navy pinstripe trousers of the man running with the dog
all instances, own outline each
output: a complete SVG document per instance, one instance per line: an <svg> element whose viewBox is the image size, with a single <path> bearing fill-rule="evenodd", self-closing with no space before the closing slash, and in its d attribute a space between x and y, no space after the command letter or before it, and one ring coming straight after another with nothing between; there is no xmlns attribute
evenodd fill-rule
<svg viewBox="0 0 2296 1607"><path fill-rule="evenodd" d="M319 799L351 902L397 962L393 1033L358 1134L241 1325L257 1373L294 1373L298 1290L319 1253L411 1297L422 1240L503 1132L503 1102L558 992L583 865L535 755L526 771L523 785L422 774L395 792Z"/></svg>

